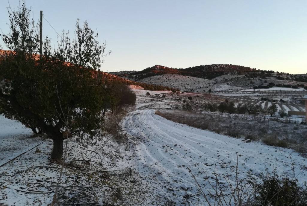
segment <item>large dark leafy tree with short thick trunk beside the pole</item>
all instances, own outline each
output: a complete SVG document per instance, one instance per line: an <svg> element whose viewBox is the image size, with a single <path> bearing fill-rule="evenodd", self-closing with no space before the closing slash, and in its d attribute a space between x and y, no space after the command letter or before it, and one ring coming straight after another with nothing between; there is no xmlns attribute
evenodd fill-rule
<svg viewBox="0 0 307 206"><path fill-rule="evenodd" d="M110 95L96 69L105 43L99 44L87 22L80 27L77 20L76 39L63 35L53 51L47 39L40 59L25 47L25 38L37 35L25 2L9 10L9 17L10 33L1 35L11 51L0 59L0 113L40 128L53 140L51 157L61 158L65 138L93 136L103 122L101 113Z"/></svg>

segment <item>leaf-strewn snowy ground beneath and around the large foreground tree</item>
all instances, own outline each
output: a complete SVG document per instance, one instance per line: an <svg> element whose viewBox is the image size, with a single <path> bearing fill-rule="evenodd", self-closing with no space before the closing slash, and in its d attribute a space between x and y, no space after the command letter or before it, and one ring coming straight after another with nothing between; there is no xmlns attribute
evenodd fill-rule
<svg viewBox="0 0 307 206"><path fill-rule="evenodd" d="M52 140L26 139L24 136L30 135L27 129L4 118L0 129L0 158L2 162L11 160L0 165L0 205L51 205L61 168L50 161ZM158 199L131 164L132 146L133 140L119 144L111 135L84 141L70 138L59 205L113 205L115 201L117 205L142 206Z"/></svg>

